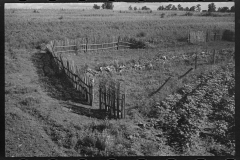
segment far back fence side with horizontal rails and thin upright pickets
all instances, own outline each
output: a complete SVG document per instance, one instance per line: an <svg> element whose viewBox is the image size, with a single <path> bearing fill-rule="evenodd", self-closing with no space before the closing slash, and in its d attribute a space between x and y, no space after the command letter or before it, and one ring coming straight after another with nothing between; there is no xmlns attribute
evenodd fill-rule
<svg viewBox="0 0 240 160"><path fill-rule="evenodd" d="M88 51L98 51L105 49L122 49L130 48L132 43L128 42L127 38L112 37L103 43L96 43L96 38L78 38L78 39L64 39L55 41L55 52L88 52Z"/></svg>

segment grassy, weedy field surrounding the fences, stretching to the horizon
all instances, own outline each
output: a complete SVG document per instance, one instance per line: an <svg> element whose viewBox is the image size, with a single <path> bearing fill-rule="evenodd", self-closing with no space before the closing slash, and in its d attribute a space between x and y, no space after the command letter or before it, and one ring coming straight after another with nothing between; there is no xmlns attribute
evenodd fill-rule
<svg viewBox="0 0 240 160"><path fill-rule="evenodd" d="M187 42L189 30L235 31L233 14L38 11L5 10L7 157L235 154L235 42ZM97 43L127 36L147 44L145 49L65 54L75 65L98 72L93 106L77 103L64 78L44 72L44 66L49 66L46 44L86 36L96 37ZM214 49L225 51L212 64ZM198 57L206 63L178 80L194 68L195 53L207 50L209 55ZM100 72L100 67L116 63L126 66L121 74ZM150 63L149 69L133 67ZM169 82L155 93L169 76ZM98 110L102 78L124 84L125 119L102 119Z"/></svg>

